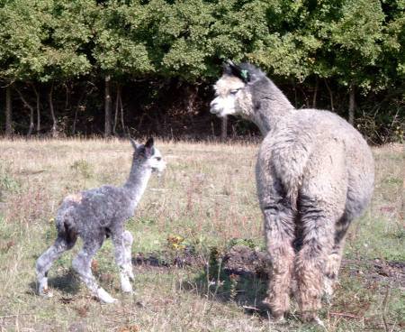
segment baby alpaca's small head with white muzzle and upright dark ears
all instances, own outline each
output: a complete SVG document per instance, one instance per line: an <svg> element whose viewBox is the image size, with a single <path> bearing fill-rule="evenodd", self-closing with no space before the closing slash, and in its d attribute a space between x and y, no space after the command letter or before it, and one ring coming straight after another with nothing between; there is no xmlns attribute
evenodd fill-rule
<svg viewBox="0 0 405 332"><path fill-rule="evenodd" d="M136 143L130 138L133 146L134 161L139 161L142 166L150 168L152 171L162 172L166 168L166 161L163 160L162 154L154 146L153 138L149 138L145 144Z"/></svg>

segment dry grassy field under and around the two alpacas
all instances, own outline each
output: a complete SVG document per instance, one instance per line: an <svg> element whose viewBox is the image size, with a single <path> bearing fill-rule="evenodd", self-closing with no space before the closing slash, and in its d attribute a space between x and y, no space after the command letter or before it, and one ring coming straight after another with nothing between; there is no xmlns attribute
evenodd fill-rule
<svg viewBox="0 0 405 332"><path fill-rule="evenodd" d="M282 325L260 306L266 280L229 274L221 260L234 244L263 250L253 143L157 142L167 161L135 216L136 293L124 296L106 241L94 274L119 299L102 305L72 272L79 245L49 272L54 297L35 295L34 264L53 242L61 199L103 183L119 185L130 168L126 141L0 141L1 331L400 331L405 329L405 152L374 149L374 200L350 228L326 327L302 324L293 307Z"/></svg>

